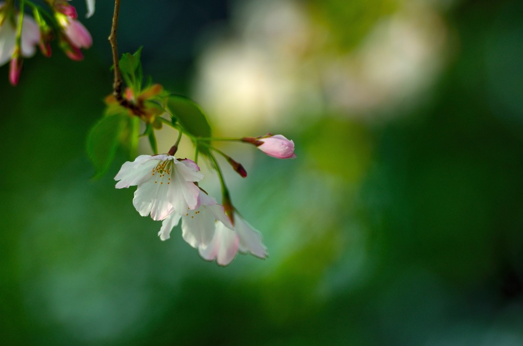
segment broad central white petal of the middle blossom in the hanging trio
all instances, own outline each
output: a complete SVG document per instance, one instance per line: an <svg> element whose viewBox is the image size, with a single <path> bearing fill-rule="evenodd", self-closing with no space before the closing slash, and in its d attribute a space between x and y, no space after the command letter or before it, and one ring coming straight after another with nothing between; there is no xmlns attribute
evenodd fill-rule
<svg viewBox="0 0 523 346"><path fill-rule="evenodd" d="M214 236L214 215L206 205L181 216L181 235L194 248L209 245Z"/></svg>

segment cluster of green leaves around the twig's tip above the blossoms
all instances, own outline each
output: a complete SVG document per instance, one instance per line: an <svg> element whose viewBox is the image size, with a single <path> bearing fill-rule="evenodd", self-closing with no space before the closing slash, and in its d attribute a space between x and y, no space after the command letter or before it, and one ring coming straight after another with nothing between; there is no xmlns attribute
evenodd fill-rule
<svg viewBox="0 0 523 346"><path fill-rule="evenodd" d="M122 78L133 95L140 95L142 90L145 94L147 88L153 85L151 78L147 78L146 86L143 87L141 53L142 47L133 54L123 54L119 61ZM161 116L154 121L144 122L145 129L140 134L141 118L137 114L133 114L117 102L107 102L104 116L90 129L87 136L86 148L95 167L94 178L100 178L107 172L118 148L127 151L130 159L134 158L137 155L138 140L141 136L149 139L152 151L157 154L155 130L161 129L162 124L172 126L190 137L197 151L202 154L209 153L208 146L198 139L211 137L211 126L196 102L163 90L144 103L146 107L155 108ZM165 116L169 118L166 119Z"/></svg>

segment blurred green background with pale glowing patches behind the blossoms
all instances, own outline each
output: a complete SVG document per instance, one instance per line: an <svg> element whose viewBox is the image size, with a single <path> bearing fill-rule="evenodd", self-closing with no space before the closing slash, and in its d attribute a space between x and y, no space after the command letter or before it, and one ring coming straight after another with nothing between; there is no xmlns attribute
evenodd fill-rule
<svg viewBox="0 0 523 346"><path fill-rule="evenodd" d="M90 180L112 5L82 63L53 46L16 88L0 68L2 344L523 344L521 2L122 2L120 53L143 45L215 134L295 142L222 147L270 255L226 268L158 239L114 188L124 153Z"/></svg>

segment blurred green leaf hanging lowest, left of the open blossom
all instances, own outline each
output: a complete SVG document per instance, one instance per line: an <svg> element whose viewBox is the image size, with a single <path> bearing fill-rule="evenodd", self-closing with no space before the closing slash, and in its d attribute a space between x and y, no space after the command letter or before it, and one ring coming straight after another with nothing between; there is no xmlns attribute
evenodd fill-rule
<svg viewBox="0 0 523 346"><path fill-rule="evenodd" d="M101 118L87 135L87 154L95 166L93 178L98 179L115 159L120 137L129 124L124 114Z"/></svg>

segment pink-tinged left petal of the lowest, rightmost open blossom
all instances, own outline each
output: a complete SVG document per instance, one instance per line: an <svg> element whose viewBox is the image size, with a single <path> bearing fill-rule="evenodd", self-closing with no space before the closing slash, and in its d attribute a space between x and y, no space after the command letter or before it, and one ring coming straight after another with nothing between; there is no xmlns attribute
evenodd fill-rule
<svg viewBox="0 0 523 346"><path fill-rule="evenodd" d="M220 266L227 266L238 252L238 242L238 236L233 230L217 222L211 243L205 248L199 247L198 252L203 259L208 261L216 259Z"/></svg>

